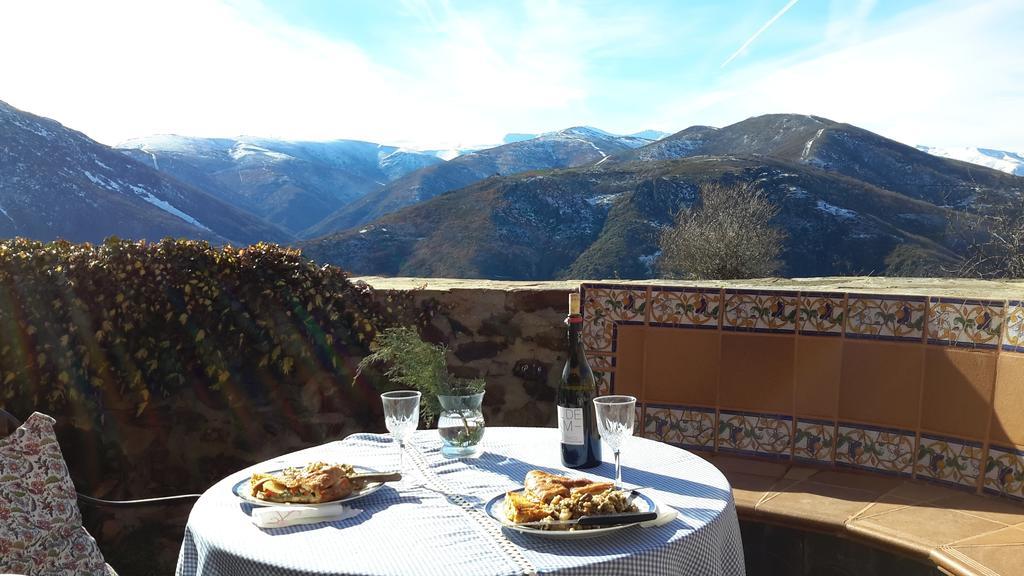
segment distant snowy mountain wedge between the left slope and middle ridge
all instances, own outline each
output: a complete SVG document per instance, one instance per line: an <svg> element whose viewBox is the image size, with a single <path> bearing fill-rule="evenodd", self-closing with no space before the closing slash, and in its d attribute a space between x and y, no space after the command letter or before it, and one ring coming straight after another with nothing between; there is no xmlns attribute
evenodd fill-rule
<svg viewBox="0 0 1024 576"><path fill-rule="evenodd" d="M443 162L433 155L358 140L158 135L119 148L293 234L388 181Z"/></svg>

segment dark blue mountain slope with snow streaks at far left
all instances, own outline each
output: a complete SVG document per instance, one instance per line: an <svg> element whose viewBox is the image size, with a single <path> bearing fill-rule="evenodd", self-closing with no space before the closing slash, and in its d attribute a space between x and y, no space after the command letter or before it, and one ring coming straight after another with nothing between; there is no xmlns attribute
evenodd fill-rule
<svg viewBox="0 0 1024 576"><path fill-rule="evenodd" d="M0 101L0 235L166 236L249 244L290 235L59 123Z"/></svg>

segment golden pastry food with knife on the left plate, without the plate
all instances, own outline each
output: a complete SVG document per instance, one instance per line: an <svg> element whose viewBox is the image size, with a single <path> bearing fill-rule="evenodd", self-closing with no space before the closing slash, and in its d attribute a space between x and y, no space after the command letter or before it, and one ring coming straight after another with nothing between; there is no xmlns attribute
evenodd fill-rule
<svg viewBox="0 0 1024 576"><path fill-rule="evenodd" d="M252 496L259 500L317 504L346 498L366 488L368 482L400 478L397 474L356 474L349 464L312 462L278 474L254 474L249 488Z"/></svg>

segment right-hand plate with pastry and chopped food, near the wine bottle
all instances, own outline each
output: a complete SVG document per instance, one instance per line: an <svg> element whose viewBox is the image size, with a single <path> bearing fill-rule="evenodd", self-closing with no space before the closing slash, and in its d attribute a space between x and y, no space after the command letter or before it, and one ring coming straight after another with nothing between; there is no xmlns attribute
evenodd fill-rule
<svg viewBox="0 0 1024 576"><path fill-rule="evenodd" d="M523 487L499 494L485 506L505 528L546 538L593 538L650 522L657 504L614 483L530 470Z"/></svg>

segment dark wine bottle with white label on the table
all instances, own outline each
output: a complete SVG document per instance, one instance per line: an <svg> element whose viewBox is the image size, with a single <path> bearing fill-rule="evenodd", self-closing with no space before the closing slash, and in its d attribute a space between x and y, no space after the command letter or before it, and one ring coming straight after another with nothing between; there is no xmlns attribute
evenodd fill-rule
<svg viewBox="0 0 1024 576"><path fill-rule="evenodd" d="M562 465L590 468L601 463L601 437L594 411L597 383L580 338L583 317L580 316L578 292L569 293L569 315L565 324L568 326L569 354L556 394Z"/></svg>

